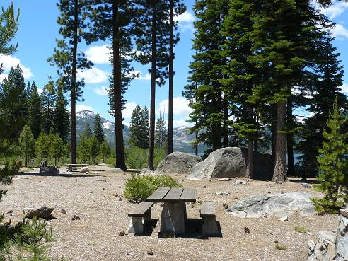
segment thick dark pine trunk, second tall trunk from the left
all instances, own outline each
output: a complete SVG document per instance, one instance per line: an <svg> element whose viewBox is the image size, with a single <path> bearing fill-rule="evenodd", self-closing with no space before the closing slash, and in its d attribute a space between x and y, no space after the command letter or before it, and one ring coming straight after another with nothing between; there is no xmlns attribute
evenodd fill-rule
<svg viewBox="0 0 348 261"><path fill-rule="evenodd" d="M115 116L115 147L116 147L116 168L127 170L124 162L123 124L122 124L122 100L121 100L121 64L120 64L120 28L118 21L119 1L112 3L112 57L113 57L113 78L114 78L114 116Z"/></svg>

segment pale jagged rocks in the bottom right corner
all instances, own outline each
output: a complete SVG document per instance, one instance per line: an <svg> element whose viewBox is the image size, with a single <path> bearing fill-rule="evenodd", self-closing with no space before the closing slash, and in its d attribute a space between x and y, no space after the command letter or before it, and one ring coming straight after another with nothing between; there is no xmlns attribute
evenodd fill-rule
<svg viewBox="0 0 348 261"><path fill-rule="evenodd" d="M348 260L348 208L341 211L336 233L320 231L308 241L307 261Z"/></svg>

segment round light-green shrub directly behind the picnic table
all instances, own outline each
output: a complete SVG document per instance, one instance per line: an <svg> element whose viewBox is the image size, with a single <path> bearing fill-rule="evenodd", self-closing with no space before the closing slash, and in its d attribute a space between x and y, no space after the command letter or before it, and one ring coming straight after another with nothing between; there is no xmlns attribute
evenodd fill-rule
<svg viewBox="0 0 348 261"><path fill-rule="evenodd" d="M158 187L182 187L182 185L168 175L139 176L133 174L131 178L126 180L124 197L130 202L141 202Z"/></svg>

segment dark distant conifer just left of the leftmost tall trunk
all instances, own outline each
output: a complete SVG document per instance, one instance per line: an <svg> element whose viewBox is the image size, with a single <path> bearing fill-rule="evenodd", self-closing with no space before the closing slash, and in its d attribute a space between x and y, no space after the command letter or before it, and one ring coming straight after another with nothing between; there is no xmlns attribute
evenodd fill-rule
<svg viewBox="0 0 348 261"><path fill-rule="evenodd" d="M55 100L52 131L59 134L63 142L66 141L69 135L69 112L66 110L67 102L64 98L62 86L57 88L57 98Z"/></svg>

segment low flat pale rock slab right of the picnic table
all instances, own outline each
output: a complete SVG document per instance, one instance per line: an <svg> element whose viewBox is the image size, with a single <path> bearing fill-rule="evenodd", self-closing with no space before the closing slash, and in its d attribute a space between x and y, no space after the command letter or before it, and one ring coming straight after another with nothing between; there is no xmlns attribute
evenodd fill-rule
<svg viewBox="0 0 348 261"><path fill-rule="evenodd" d="M240 199L226 211L241 218L283 217L294 214L294 211L299 211L299 214L303 216L309 216L315 214L312 197L313 195L304 192L253 195Z"/></svg>

